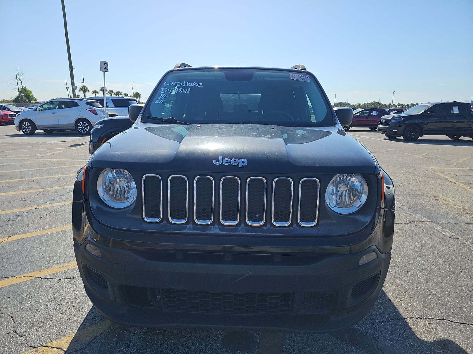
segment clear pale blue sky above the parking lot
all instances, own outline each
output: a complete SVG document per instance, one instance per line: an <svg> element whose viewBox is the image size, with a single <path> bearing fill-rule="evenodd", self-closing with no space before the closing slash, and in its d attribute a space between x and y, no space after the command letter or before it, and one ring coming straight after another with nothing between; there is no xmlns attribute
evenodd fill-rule
<svg viewBox="0 0 473 354"><path fill-rule="evenodd" d="M176 62L304 64L333 103L411 103L473 96L473 1L66 0L76 84L145 99ZM0 0L0 99L15 68L40 100L67 97L60 0Z"/></svg>

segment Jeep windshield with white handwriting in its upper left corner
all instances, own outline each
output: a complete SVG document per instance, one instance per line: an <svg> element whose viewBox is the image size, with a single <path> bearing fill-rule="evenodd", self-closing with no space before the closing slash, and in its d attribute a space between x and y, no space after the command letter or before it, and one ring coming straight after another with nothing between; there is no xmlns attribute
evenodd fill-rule
<svg viewBox="0 0 473 354"><path fill-rule="evenodd" d="M278 70L202 69L169 73L151 96L142 121L333 126L312 76Z"/></svg>

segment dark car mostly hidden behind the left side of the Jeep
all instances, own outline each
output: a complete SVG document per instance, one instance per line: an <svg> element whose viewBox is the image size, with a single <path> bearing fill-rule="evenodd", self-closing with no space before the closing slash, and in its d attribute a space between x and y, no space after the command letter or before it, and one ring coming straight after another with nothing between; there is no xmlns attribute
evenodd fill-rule
<svg viewBox="0 0 473 354"><path fill-rule="evenodd" d="M93 154L108 139L120 134L133 125L129 116L100 119L90 131L89 153Z"/></svg>

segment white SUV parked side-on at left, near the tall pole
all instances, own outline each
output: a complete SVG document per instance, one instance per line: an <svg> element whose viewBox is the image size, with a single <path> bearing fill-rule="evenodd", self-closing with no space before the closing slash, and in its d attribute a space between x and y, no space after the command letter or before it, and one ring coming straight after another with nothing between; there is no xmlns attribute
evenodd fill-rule
<svg viewBox="0 0 473 354"><path fill-rule="evenodd" d="M17 114L15 129L32 135L36 130L51 134L55 129L76 129L89 134L96 121L105 118L105 110L98 101L82 98L58 98L44 102L33 110Z"/></svg>

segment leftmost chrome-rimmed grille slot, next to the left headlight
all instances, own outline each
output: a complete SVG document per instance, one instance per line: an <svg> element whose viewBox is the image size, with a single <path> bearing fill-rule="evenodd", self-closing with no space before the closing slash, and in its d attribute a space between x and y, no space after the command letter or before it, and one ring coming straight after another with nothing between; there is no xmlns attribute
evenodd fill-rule
<svg viewBox="0 0 473 354"><path fill-rule="evenodd" d="M159 222L162 219L162 181L158 175L144 175L141 193L143 195L143 219Z"/></svg>

